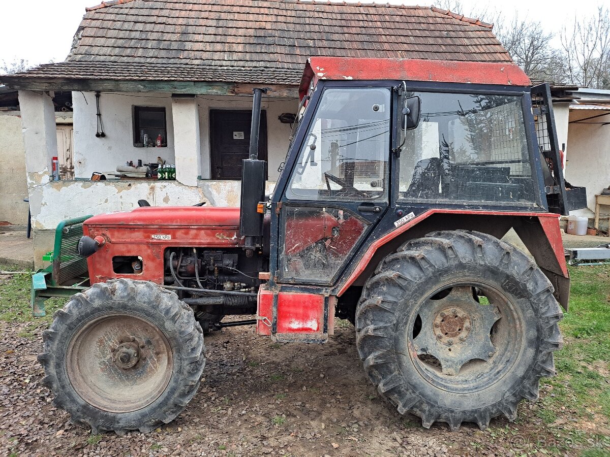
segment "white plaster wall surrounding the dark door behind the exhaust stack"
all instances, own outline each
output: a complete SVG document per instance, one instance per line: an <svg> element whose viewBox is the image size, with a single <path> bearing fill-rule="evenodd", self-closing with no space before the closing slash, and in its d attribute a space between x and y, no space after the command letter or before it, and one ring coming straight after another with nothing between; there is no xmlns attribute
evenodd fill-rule
<svg viewBox="0 0 610 457"><path fill-rule="evenodd" d="M198 96L199 132L201 133L201 177L210 179L210 110L251 110L251 96ZM264 97L261 109L267 111L267 157L269 180L279 177L278 166L288 152L290 124L279 122L282 113L296 113L298 99Z"/></svg>

